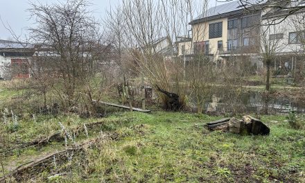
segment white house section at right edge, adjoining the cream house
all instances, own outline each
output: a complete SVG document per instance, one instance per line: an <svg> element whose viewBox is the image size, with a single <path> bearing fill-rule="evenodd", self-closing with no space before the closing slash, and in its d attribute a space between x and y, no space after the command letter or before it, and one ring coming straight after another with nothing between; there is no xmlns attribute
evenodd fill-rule
<svg viewBox="0 0 305 183"><path fill-rule="evenodd" d="M305 4L305 1L294 6L302 4ZM305 11L299 10L287 16L288 13L288 10L275 9L262 16L261 32L264 36L261 38L261 46L269 46L277 55L273 63L275 71L294 74L304 69Z"/></svg>

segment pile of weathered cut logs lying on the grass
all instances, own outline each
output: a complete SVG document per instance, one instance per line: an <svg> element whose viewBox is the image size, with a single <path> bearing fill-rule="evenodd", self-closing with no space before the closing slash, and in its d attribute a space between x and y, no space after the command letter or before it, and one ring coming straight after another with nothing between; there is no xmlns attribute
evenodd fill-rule
<svg viewBox="0 0 305 183"><path fill-rule="evenodd" d="M259 121L259 119L255 119L249 115L243 116L242 120L232 118L213 121L207 123L207 128L211 131L222 130L224 132L232 132L236 134L270 134L270 128L268 128L267 125Z"/></svg>

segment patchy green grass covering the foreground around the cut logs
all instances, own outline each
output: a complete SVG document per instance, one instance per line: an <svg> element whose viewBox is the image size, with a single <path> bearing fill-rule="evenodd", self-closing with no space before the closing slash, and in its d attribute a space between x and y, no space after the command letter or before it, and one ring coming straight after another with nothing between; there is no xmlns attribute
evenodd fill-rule
<svg viewBox="0 0 305 183"><path fill-rule="evenodd" d="M13 150L1 156L6 174L26 162L99 139L85 155L46 169L35 182L304 182L305 132L292 130L285 116L261 116L270 136L240 136L209 132L204 124L222 116L153 112L117 112L104 119L80 119L77 115L28 116L11 130L1 119L0 150L16 143L46 137L60 130L73 134L83 123L103 121L88 134L71 140ZM8 118L7 121L11 119ZM12 122L8 122L12 123ZM5 133L5 135L3 135ZM107 138L105 134L115 134ZM73 135L72 135L73 136ZM5 142L5 143L4 143ZM67 157L68 159L68 157ZM85 160L84 160L85 159ZM3 173L1 172L1 175ZM30 181L29 181L30 182Z"/></svg>

